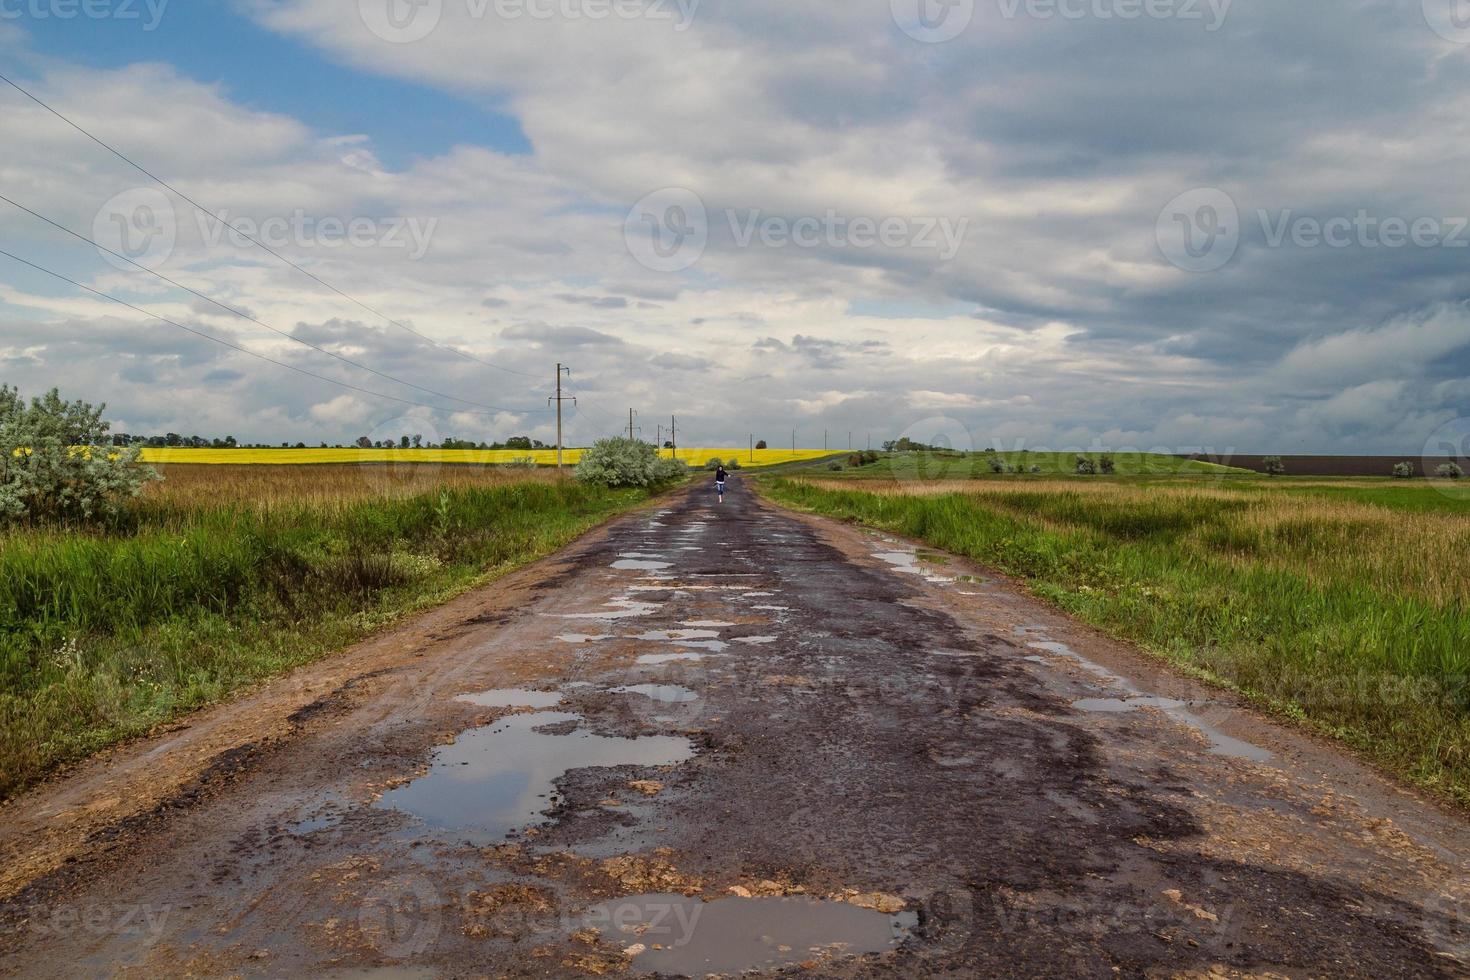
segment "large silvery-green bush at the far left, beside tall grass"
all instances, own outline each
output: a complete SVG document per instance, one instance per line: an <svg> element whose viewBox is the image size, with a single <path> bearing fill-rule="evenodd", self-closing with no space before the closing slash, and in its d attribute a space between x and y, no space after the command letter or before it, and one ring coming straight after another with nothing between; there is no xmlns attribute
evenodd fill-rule
<svg viewBox="0 0 1470 980"><path fill-rule="evenodd" d="M104 447L106 406L62 401L57 389L32 398L0 385L0 520L96 522L115 517L157 472L141 450Z"/></svg>

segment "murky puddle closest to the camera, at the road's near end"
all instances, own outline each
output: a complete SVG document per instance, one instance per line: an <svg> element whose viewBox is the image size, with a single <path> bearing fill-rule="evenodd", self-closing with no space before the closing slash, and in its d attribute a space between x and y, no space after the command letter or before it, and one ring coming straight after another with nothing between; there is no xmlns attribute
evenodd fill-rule
<svg viewBox="0 0 1470 980"><path fill-rule="evenodd" d="M634 952L634 973L703 977L883 952L908 936L917 917L807 896L634 895L588 909L587 921Z"/></svg>

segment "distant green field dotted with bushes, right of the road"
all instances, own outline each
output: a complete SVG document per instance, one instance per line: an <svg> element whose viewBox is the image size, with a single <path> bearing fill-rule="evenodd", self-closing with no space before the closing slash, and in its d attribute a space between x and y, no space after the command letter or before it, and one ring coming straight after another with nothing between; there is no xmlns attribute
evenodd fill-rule
<svg viewBox="0 0 1470 980"><path fill-rule="evenodd" d="M883 454L878 463L863 467L844 467L832 476L848 479L919 479L960 480L972 478L1022 479L1035 476L1078 475L1078 455L1101 460L1102 453L892 453ZM1119 476L1250 476L1250 470L1219 466L1201 460L1186 460L1177 455L1157 453L1113 453ZM991 460L998 458L1019 473L992 473ZM1032 467L1038 472L1032 473ZM1091 478L1079 478L1091 479Z"/></svg>

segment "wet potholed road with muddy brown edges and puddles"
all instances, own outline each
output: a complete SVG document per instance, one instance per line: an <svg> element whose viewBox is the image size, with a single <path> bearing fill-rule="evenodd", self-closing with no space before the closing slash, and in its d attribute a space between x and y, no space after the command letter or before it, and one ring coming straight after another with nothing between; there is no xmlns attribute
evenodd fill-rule
<svg viewBox="0 0 1470 980"><path fill-rule="evenodd" d="M28 977L1466 976L1466 824L735 485L0 811Z"/></svg>

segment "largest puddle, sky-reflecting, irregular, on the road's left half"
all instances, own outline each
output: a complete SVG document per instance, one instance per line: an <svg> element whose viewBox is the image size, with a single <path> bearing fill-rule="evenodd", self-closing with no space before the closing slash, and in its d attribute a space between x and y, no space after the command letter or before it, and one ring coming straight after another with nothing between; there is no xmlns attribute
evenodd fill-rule
<svg viewBox="0 0 1470 980"><path fill-rule="evenodd" d="M407 813L429 830L497 843L512 830L544 821L544 811L559 801L554 783L569 770L673 765L694 757L694 745L684 738L541 730L581 721L582 716L567 711L537 711L463 732L434 749L426 774L390 789L373 807Z"/></svg>

